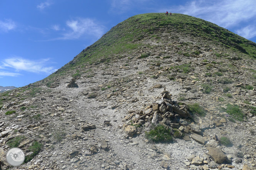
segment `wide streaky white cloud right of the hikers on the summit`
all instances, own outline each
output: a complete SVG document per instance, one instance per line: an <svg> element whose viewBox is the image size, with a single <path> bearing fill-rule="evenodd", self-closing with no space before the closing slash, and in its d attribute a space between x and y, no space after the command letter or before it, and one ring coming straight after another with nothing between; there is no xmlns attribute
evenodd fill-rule
<svg viewBox="0 0 256 170"><path fill-rule="evenodd" d="M176 8L175 13L196 16L224 28L231 28L255 18L255 7L255 0L194 0Z"/></svg>

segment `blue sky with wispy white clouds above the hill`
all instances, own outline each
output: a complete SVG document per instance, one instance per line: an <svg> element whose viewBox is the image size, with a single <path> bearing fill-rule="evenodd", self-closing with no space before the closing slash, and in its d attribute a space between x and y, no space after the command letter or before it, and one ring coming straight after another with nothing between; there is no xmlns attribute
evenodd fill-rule
<svg viewBox="0 0 256 170"><path fill-rule="evenodd" d="M42 80L141 13L195 16L256 42L255 7L255 0L1 0L0 86Z"/></svg>

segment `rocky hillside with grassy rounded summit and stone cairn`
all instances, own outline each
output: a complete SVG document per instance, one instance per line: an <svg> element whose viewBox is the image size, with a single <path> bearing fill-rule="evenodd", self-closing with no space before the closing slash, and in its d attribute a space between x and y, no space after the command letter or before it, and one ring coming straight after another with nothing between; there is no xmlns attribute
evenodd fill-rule
<svg viewBox="0 0 256 170"><path fill-rule="evenodd" d="M1 94L2 168L15 169L3 158L20 147L19 169L255 169L255 52L198 18L133 16ZM157 124L172 142L146 135Z"/></svg>

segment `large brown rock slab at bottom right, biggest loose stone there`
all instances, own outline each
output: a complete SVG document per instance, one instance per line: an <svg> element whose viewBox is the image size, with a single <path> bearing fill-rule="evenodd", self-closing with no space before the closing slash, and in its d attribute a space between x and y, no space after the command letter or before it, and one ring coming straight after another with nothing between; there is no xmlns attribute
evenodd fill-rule
<svg viewBox="0 0 256 170"><path fill-rule="evenodd" d="M226 159L226 155L221 151L221 149L216 147L206 147L207 150L209 150L208 155L211 157L211 159L216 163L223 163Z"/></svg>

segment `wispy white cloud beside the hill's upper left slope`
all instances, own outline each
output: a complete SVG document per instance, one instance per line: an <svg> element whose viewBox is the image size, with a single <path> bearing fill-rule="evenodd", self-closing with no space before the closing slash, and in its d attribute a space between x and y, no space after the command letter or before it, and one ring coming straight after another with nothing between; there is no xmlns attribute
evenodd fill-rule
<svg viewBox="0 0 256 170"><path fill-rule="evenodd" d="M63 33L62 37L57 39L78 39L82 36L95 36L100 38L104 33L104 27L90 18L78 18L76 20L66 21L68 32Z"/></svg>

